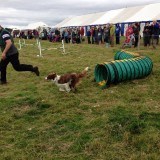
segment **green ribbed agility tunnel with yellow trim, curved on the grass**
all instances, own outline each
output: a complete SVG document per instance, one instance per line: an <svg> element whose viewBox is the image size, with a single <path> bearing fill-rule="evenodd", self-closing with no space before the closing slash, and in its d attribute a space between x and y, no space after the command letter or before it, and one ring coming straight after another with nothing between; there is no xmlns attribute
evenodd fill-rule
<svg viewBox="0 0 160 160"><path fill-rule="evenodd" d="M147 56L118 51L114 61L97 64L94 70L96 82L102 88L111 83L133 80L148 76L153 68L152 60Z"/></svg>

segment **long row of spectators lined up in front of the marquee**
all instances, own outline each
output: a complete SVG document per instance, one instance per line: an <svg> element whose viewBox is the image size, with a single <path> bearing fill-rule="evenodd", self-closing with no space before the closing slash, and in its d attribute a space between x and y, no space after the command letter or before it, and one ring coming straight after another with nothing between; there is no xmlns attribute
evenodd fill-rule
<svg viewBox="0 0 160 160"><path fill-rule="evenodd" d="M88 44L105 44L105 47L114 47L115 44L122 44L122 48L125 47L138 47L139 40L141 38L140 32L143 33L144 46L153 46L159 43L160 23L157 21L146 22L144 28L140 27L140 23L128 24L125 29L125 40L121 42L120 37L122 34L122 28L120 24L106 24L99 26L88 26L85 30L81 27L68 27L68 28L55 28L41 32L38 30L27 30L18 33L20 38L32 39L40 38L42 40L49 40L50 42L61 42L63 39L65 43L82 43L86 40ZM17 36L17 31L13 32L13 37Z"/></svg>

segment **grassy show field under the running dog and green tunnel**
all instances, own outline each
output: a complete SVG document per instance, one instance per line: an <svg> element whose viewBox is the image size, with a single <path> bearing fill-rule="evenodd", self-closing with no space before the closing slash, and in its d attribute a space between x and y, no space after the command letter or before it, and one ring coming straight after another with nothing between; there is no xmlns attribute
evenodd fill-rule
<svg viewBox="0 0 160 160"><path fill-rule="evenodd" d="M59 45L42 41L44 48ZM0 159L159 160L160 47L128 49L153 60L151 75L101 90L93 82L94 67L113 60L119 49L66 44L66 55L44 50L41 58L36 46L22 47L21 63L37 65L40 77L8 66L8 84L0 86ZM59 92L44 79L86 66L77 93Z"/></svg>

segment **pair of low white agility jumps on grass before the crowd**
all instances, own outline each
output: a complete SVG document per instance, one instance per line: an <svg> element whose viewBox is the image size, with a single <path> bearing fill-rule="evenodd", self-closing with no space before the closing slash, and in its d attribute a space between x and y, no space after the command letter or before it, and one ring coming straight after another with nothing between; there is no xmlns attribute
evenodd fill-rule
<svg viewBox="0 0 160 160"><path fill-rule="evenodd" d="M52 49L61 49L62 50L62 54L66 54L65 52L65 47L64 47L64 40L62 40L62 45L60 47L54 47L54 48L42 48L41 42L39 41L39 39L36 39L36 43L35 44L26 44L25 39L23 39L23 42L21 42L21 39L19 39L19 48L18 50L21 50L23 46L37 46L38 50L39 50L39 54L37 55L37 57L43 57L42 56L42 51L44 50L52 50Z"/></svg>

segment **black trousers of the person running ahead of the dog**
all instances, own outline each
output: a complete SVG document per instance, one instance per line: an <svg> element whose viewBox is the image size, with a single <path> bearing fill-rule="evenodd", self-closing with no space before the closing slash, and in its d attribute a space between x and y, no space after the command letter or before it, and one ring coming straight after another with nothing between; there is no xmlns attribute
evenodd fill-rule
<svg viewBox="0 0 160 160"><path fill-rule="evenodd" d="M1 81L6 82L6 70L8 63L11 62L13 68L16 71L31 71L33 72L33 66L27 64L20 64L19 62L19 53L6 57L4 60L2 59L0 62L0 70L1 70Z"/></svg>

